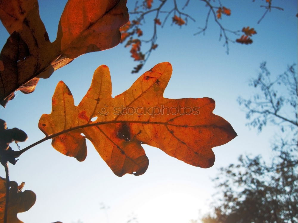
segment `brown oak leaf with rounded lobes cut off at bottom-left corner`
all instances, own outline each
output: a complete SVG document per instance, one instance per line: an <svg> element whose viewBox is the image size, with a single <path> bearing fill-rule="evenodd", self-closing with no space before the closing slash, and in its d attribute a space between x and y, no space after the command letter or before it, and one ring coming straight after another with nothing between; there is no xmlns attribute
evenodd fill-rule
<svg viewBox="0 0 298 223"><path fill-rule="evenodd" d="M17 217L20 212L29 210L35 203L36 195L33 191L21 191L24 182L18 186L15 181L10 181L9 202L7 222L9 223L23 223ZM5 210L5 194L6 194L6 180L0 177L0 222L3 222Z"/></svg>

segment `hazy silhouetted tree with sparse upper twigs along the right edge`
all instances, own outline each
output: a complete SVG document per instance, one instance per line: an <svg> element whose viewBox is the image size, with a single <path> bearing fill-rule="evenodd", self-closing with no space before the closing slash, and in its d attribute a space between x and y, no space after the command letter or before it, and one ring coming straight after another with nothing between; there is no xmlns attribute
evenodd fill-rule
<svg viewBox="0 0 298 223"><path fill-rule="evenodd" d="M253 99L238 98L247 124L259 132L269 123L278 129L270 163L262 156L239 157L213 179L218 189L214 210L203 223L297 222L297 72L295 65L271 80L266 63L250 83L260 89ZM271 126L272 127L272 126ZM260 148L261 149L261 148Z"/></svg>

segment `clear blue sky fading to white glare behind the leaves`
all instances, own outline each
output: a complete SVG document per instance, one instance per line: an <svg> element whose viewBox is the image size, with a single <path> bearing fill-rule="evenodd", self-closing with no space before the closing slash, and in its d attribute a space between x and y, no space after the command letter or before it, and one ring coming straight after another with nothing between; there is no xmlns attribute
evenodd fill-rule
<svg viewBox="0 0 298 223"><path fill-rule="evenodd" d="M134 2L128 0L129 9L134 7ZM261 62L267 61L273 76L283 73L287 65L297 63L297 1L272 2L284 11L272 10L257 24L264 13L260 5L265 1L221 1L232 10L231 16L223 15L221 20L226 28L239 30L250 26L257 31L252 45L230 43L229 55L223 40L218 41L219 27L212 18L205 35L193 35L198 32L198 26L205 25L207 8L204 3L190 1L184 11L196 22L189 20L187 26L180 28L175 24L171 26L169 20L163 29L158 27L159 46L139 74L131 74L137 63L130 57L129 49L120 44L78 57L49 79L41 79L32 94L16 93L15 99L5 109L0 109L0 114L9 128L18 127L28 134L28 140L19 144L24 148L44 137L38 129L38 120L42 114L51 113L52 94L60 80L69 87L77 105L89 89L93 72L102 64L110 69L112 94L116 96L143 72L168 61L173 66L173 74L164 97L211 97L216 102L214 113L229 121L238 134L228 144L213 149L216 160L209 169L190 166L158 148L145 145L149 167L145 174L137 177L115 176L89 141L83 162L60 154L46 141L24 153L15 166L10 165L10 179L18 183L25 181L24 189L37 194L35 205L18 217L30 223L58 220L72 223L79 219L84 223L123 223L134 213L140 223L182 223L197 219L198 210L207 212L215 192L210 179L216 176L218 168L235 163L240 154L262 154L266 159L271 155L275 128L267 127L260 134L249 130L245 127L245 113L236 99L254 94L248 83L250 78L256 77ZM39 1L41 19L51 41L55 40L65 3L65 0ZM152 27L151 23L152 18L146 18L148 27ZM152 35L150 29L143 29L144 38ZM3 26L0 32L3 47L9 35ZM4 177L4 168L0 175ZM110 208L100 209L100 203Z"/></svg>

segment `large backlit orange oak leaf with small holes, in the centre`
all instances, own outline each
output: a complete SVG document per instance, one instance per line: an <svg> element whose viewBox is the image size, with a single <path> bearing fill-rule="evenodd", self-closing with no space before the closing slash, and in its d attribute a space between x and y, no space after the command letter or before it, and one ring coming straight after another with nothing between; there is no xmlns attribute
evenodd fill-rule
<svg viewBox="0 0 298 223"><path fill-rule="evenodd" d="M208 168L215 161L212 147L229 142L236 132L212 113L215 102L211 98L164 98L171 73L170 63L160 63L112 98L109 69L102 65L78 106L60 81L52 98L52 113L42 115L38 127L46 136L56 134L52 141L56 150L79 161L86 158L88 138L117 176L146 171L148 158L142 144Z"/></svg>

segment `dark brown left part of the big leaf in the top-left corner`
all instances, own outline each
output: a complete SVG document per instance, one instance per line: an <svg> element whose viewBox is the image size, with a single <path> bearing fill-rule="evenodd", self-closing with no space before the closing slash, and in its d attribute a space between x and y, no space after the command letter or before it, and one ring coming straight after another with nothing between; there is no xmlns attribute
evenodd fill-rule
<svg viewBox="0 0 298 223"><path fill-rule="evenodd" d="M4 68L0 102L5 106L14 91L51 66L51 57L58 52L39 17L37 0L3 0L0 9L1 21L11 34L0 54Z"/></svg>

